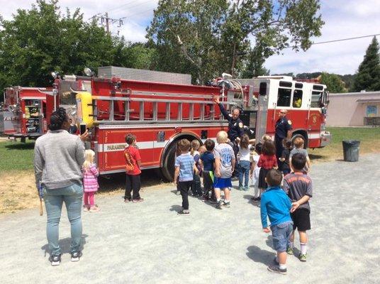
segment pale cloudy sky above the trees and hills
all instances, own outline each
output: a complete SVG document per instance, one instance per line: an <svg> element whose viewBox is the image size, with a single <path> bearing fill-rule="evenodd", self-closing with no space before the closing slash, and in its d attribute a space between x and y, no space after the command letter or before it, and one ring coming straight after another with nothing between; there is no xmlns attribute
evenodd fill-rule
<svg viewBox="0 0 380 284"><path fill-rule="evenodd" d="M11 18L16 9L29 9L34 1L0 0L1 16ZM144 41L145 28L150 23L153 9L158 0L60 0L62 11L68 7L74 10L79 7L85 18L108 11L111 18L124 19L124 25L111 27L113 33L124 35L130 41ZM322 13L325 26L322 35L314 42L351 38L362 35L380 33L380 1L379 0L322 0ZM283 50L281 55L273 55L267 59L265 67L271 73L318 72L325 71L337 74L353 74L362 62L365 50L371 38L348 40L337 43L312 45L306 52Z"/></svg>

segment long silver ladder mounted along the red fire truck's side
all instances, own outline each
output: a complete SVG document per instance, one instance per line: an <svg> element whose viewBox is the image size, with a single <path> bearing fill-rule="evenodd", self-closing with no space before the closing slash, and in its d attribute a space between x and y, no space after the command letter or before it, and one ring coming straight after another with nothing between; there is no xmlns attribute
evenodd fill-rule
<svg viewBox="0 0 380 284"><path fill-rule="evenodd" d="M120 93L119 93L120 94ZM124 94L124 93L122 93ZM160 94L162 96L162 94ZM167 94L167 96L170 97L184 97L182 94ZM191 97L202 97L207 98L210 100L196 100L196 99L189 99L189 95L186 95L188 99L145 99L140 97L109 97L109 96L93 96L92 97L92 104L93 107L93 115L96 119L94 121L94 124L169 124L173 123L174 121L179 124L189 123L189 121L196 121L198 123L210 123L210 121L223 121L223 116L220 114L216 117L215 115L215 103L212 101L211 95L192 95ZM185 97L185 98L186 98ZM108 112L102 112L102 114L109 114L108 119L101 119L98 120L98 117L101 114L101 111L98 108L98 101L106 101L108 102ZM118 116L123 116L123 120L115 119L115 103L116 102L124 102L124 114L117 114ZM130 113L135 111L135 109L130 109L130 103L131 102L138 102L139 104L139 116L137 117L131 117ZM145 103L152 103L152 117L147 118L144 116L145 109L144 104ZM165 118L159 119L158 118L158 104L165 104ZM235 105L235 102L221 102L222 104L228 105L228 107L231 107ZM172 104L177 104L177 117L173 119L171 117L171 111ZM184 117L183 116L183 109L184 104L189 104L189 116ZM206 106L210 107L210 113L209 116L205 115L205 109ZM198 117L194 117L194 108L199 107L200 108L200 115Z"/></svg>

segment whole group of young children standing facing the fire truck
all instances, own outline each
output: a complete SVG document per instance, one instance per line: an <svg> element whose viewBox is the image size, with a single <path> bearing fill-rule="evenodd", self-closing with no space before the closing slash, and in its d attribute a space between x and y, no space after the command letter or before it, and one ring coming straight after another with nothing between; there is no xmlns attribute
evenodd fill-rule
<svg viewBox="0 0 380 284"><path fill-rule="evenodd" d="M136 147L133 134L125 136L128 146L124 150L126 186L125 202L142 202L140 197L140 153ZM238 139L239 153L237 163L233 147L228 143L228 134L219 131L216 143L207 139L201 146L199 141L181 139L177 143L177 157L174 163L174 184L182 197L182 209L179 215L189 215L189 192L202 197L205 202L216 203L217 209L230 207L231 177L235 165L239 168L239 190L249 189L249 177L255 193L252 200L259 202L262 228L264 232L272 231L276 258L268 270L286 273L286 254L294 253L294 232L298 229L300 239L300 261L306 261L308 236L311 229L310 205L313 196L310 171L310 159L303 149L303 138L294 139L294 149L289 139L283 141L284 151L279 163L276 147L270 136L263 136L262 142L256 143L247 135ZM255 151L251 153L251 150ZM99 207L94 203L94 193L99 185L99 171L94 164L94 151L86 150L83 165L84 211L96 212ZM201 189L203 178L203 191ZM244 185L243 185L244 182ZM220 192L224 192L223 202ZM133 192L133 195L131 193ZM267 224L267 217L271 222Z"/></svg>

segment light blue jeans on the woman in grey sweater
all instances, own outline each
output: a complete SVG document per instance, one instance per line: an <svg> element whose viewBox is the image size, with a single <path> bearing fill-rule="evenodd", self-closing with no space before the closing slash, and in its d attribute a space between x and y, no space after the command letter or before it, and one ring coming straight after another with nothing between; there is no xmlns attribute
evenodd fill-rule
<svg viewBox="0 0 380 284"><path fill-rule="evenodd" d="M68 187L49 190L43 187L43 200L45 201L47 226L46 235L49 243L50 255L61 254L59 243L59 225L62 212L62 203L65 202L67 217L71 224L72 244L71 251L79 251L82 238L82 199L83 186L77 183Z"/></svg>

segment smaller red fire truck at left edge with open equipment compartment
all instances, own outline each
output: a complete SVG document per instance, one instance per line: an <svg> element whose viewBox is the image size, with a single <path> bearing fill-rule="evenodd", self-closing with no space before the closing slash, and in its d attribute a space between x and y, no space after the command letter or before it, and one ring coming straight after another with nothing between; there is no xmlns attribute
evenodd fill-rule
<svg viewBox="0 0 380 284"><path fill-rule="evenodd" d="M10 138L36 139L47 130L46 93L51 88L9 87L4 90L1 107L2 132Z"/></svg>

